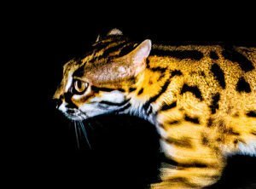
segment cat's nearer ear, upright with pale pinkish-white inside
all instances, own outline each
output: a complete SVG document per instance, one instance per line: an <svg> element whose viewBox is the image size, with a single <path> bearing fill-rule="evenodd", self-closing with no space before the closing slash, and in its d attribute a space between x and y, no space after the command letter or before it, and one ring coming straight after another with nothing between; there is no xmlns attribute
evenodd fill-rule
<svg viewBox="0 0 256 189"><path fill-rule="evenodd" d="M131 53L125 55L130 61L128 62L130 68L135 71L134 77L146 68L146 60L150 54L151 46L151 40L146 39L136 49L132 50Z"/></svg>

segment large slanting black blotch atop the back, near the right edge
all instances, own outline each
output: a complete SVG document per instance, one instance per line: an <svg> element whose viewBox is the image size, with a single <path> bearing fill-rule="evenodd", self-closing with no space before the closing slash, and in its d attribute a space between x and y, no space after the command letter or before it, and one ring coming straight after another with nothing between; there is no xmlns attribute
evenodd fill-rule
<svg viewBox="0 0 256 189"><path fill-rule="evenodd" d="M244 72L249 72L254 69L253 63L246 56L239 53L233 47L226 47L222 52L226 60L237 62Z"/></svg>

